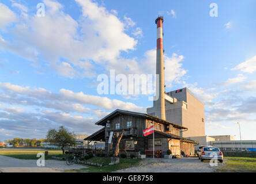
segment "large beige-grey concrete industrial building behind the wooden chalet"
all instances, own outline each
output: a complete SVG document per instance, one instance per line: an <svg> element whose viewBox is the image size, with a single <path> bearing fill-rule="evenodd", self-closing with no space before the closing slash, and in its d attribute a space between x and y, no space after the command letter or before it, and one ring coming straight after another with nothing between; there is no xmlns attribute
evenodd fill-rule
<svg viewBox="0 0 256 184"><path fill-rule="evenodd" d="M156 116L156 102L146 112ZM204 104L187 87L165 94L165 117L188 130L180 132L182 137L205 136Z"/></svg>

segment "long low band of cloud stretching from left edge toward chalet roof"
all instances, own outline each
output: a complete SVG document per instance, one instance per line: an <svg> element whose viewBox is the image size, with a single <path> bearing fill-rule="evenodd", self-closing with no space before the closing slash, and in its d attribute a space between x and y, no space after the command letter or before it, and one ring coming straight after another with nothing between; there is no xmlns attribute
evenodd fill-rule
<svg viewBox="0 0 256 184"><path fill-rule="evenodd" d="M130 102L110 99L97 95L88 95L83 92L74 93L71 90L61 89L59 93L51 93L46 89L31 89L10 83L0 83L0 89L9 93L0 93L0 101L10 104L36 105L39 107L62 110L63 112L88 112L90 109L83 105L93 105L107 110L125 109L135 112L145 112L145 108ZM18 94L22 94L22 97Z"/></svg>

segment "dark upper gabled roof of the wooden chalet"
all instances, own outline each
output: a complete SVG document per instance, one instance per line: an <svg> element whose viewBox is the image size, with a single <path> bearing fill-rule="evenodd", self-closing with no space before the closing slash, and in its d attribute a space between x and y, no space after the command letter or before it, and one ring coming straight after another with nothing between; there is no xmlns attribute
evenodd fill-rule
<svg viewBox="0 0 256 184"><path fill-rule="evenodd" d="M156 116L151 116L151 115L145 114L145 113L131 112L131 111L128 111L128 110L121 110L121 109L116 109L114 112L108 114L106 117L97 121L95 124L104 126L104 125L106 125L107 120L110 120L112 117L116 116L116 114L128 114L128 115L133 115L133 116L144 117L148 120L153 120L153 121L160 122L160 123L163 123L163 124L171 124L174 127L179 128L179 129L187 129L186 127L183 127L181 125L175 124L175 123L170 122L170 121L162 120L162 119L160 119Z"/></svg>

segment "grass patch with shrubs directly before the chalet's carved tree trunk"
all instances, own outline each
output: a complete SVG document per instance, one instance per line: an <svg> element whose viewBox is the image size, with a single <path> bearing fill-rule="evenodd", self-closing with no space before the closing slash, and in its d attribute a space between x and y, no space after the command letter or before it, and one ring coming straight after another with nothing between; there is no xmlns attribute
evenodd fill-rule
<svg viewBox="0 0 256 184"><path fill-rule="evenodd" d="M106 157L93 157L87 160L88 162L95 162L103 164L102 167L97 166L88 166L88 168L82 168L80 170L69 170L70 172L89 172L89 173L108 173L112 171L116 171L119 169L138 166L140 164L141 159L130 159L130 158L120 158L120 162L118 164L114 164L112 166L108 165L111 162L111 158Z"/></svg>

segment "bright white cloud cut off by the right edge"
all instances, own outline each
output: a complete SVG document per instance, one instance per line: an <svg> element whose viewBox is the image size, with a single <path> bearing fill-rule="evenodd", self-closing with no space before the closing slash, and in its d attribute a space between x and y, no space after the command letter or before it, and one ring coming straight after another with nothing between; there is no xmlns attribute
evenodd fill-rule
<svg viewBox="0 0 256 184"><path fill-rule="evenodd" d="M232 68L231 70L240 70L244 73L252 74L256 71L256 55L245 62L238 64L238 66Z"/></svg>

